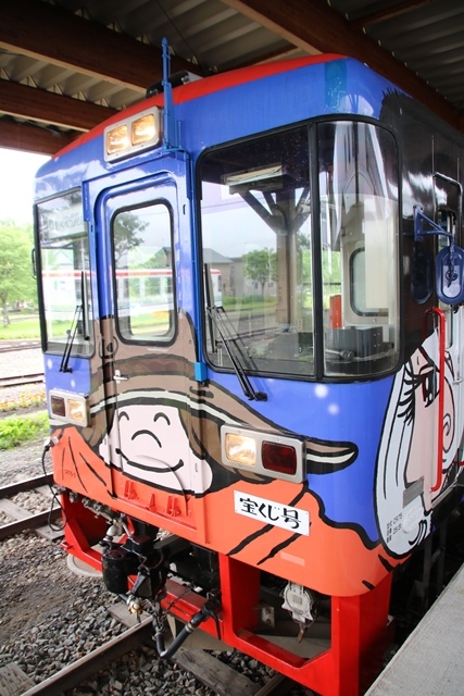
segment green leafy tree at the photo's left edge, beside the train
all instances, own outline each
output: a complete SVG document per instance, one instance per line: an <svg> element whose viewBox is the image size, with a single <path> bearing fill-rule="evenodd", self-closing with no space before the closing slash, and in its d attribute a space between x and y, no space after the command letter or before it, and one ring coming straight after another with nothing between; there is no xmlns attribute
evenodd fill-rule
<svg viewBox="0 0 464 696"><path fill-rule="evenodd" d="M11 221L0 222L0 306L5 326L10 323L9 306L37 299L32 248L30 227L22 228Z"/></svg>

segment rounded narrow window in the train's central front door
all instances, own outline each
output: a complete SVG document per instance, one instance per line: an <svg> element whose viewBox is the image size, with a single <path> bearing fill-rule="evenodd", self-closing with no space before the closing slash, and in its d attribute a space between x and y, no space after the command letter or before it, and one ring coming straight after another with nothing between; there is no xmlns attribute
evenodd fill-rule
<svg viewBox="0 0 464 696"><path fill-rule="evenodd" d="M164 202L112 220L116 325L126 341L165 343L175 331L172 223Z"/></svg>

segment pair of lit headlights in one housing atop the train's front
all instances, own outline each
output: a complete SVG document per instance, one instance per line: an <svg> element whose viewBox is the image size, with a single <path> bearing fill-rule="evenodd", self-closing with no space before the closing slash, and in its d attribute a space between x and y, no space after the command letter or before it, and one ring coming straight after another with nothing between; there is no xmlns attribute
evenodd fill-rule
<svg viewBox="0 0 464 696"><path fill-rule="evenodd" d="M160 109L124 119L104 129L104 159L112 162L128 154L136 154L161 140Z"/></svg>

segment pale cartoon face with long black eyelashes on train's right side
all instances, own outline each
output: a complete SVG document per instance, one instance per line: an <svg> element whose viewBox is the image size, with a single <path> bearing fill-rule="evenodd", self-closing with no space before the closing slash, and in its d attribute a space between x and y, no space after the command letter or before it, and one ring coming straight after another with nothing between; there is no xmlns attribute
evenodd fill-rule
<svg viewBox="0 0 464 696"><path fill-rule="evenodd" d="M429 533L434 501L457 475L453 467L463 433L453 395L453 365L448 355L439 369L434 332L396 375L377 461L376 510L383 543L404 556ZM438 396L443 389L442 452L437 451ZM431 452L431 456L430 456ZM442 485L432 490L439 476Z"/></svg>

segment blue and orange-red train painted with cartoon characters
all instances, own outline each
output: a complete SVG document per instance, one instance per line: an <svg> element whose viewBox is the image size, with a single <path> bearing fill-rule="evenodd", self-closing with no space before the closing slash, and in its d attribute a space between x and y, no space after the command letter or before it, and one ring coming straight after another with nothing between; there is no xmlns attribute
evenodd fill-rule
<svg viewBox="0 0 464 696"><path fill-rule="evenodd" d="M196 631L323 696L374 679L462 498L463 161L351 58L191 79L163 41L147 98L37 173L63 546L161 659Z"/></svg>

